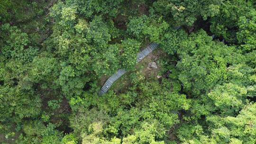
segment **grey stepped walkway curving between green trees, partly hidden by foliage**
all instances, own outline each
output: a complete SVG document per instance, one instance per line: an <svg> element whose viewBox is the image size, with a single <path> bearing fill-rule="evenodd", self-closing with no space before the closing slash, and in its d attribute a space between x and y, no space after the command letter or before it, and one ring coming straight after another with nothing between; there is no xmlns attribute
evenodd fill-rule
<svg viewBox="0 0 256 144"><path fill-rule="evenodd" d="M150 54L156 47L158 46L158 44L156 43L151 43L150 45L148 45L144 50L142 50L141 52L137 53L137 63L142 61L148 54ZM101 90L98 92L98 95L101 96L104 93L106 93L111 85L117 81L122 75L124 75L126 73L126 71L124 69L119 69L116 73L114 73L112 76L110 76L110 78L103 84L103 86L101 87Z"/></svg>

